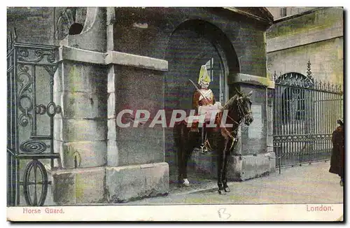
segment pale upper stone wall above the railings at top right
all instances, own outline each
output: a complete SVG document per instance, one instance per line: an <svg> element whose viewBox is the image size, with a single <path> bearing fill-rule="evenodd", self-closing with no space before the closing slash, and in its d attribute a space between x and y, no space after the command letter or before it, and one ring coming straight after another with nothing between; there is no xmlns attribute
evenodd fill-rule
<svg viewBox="0 0 350 228"><path fill-rule="evenodd" d="M343 9L320 8L282 20L267 30L269 73L297 72L332 83L343 81Z"/></svg>

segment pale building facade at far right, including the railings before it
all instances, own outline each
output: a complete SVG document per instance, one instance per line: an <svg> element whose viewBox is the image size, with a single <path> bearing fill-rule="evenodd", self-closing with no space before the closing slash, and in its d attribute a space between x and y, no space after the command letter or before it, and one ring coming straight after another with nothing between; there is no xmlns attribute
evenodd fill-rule
<svg viewBox="0 0 350 228"><path fill-rule="evenodd" d="M332 131L344 117L344 10L271 11L267 71L275 82L275 152L282 166L327 159Z"/></svg>

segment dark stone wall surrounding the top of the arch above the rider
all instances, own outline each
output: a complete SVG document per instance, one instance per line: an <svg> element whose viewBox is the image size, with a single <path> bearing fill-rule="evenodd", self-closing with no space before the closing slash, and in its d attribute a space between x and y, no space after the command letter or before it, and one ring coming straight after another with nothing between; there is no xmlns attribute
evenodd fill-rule
<svg viewBox="0 0 350 228"><path fill-rule="evenodd" d="M221 8L116 8L115 50L165 59L171 34L188 20L223 31L239 58L236 73L266 77L266 27Z"/></svg>

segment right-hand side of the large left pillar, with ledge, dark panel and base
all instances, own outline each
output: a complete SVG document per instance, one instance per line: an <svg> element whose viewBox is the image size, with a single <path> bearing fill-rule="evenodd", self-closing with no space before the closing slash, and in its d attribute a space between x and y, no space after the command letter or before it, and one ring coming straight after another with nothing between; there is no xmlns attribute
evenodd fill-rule
<svg viewBox="0 0 350 228"><path fill-rule="evenodd" d="M169 192L169 166L165 162L164 128L151 122L120 127L120 111L146 110L155 117L163 109L167 61L109 51L108 143L106 189L113 203L141 199ZM125 114L125 117L134 117ZM124 122L125 123L125 122Z"/></svg>

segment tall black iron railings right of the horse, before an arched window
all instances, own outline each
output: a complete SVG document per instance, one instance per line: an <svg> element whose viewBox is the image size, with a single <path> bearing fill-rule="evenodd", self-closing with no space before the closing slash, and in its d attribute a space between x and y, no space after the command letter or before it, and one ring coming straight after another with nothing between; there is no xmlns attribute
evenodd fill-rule
<svg viewBox="0 0 350 228"><path fill-rule="evenodd" d="M308 64L309 68L309 64ZM332 131L343 117L342 86L317 82L308 75L275 78L274 152L276 166L330 159Z"/></svg>

